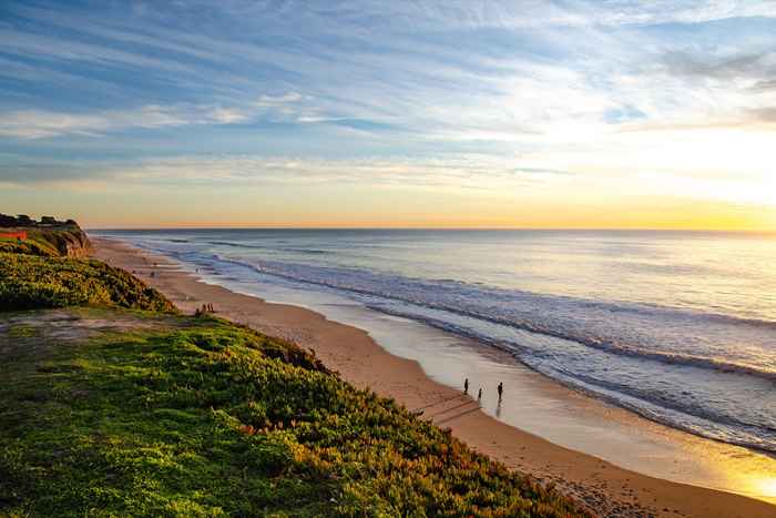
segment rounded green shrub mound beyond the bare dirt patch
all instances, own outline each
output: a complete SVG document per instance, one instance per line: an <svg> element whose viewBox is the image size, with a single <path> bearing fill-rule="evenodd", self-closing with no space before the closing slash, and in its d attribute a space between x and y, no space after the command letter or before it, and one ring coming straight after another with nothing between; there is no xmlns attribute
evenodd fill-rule
<svg viewBox="0 0 776 518"><path fill-rule="evenodd" d="M0 312L67 306L174 311L156 290L100 261L0 253Z"/></svg>

